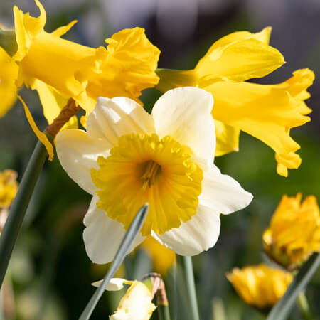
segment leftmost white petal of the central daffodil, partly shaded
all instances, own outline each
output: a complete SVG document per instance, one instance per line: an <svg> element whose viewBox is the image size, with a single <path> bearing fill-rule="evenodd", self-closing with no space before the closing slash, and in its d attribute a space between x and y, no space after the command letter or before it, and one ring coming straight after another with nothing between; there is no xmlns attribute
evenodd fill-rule
<svg viewBox="0 0 320 320"><path fill-rule="evenodd" d="M63 169L78 185L94 194L97 189L90 176L90 169L98 169L97 157L109 154L110 144L102 139L92 139L83 130L68 129L59 132L55 148Z"/></svg>

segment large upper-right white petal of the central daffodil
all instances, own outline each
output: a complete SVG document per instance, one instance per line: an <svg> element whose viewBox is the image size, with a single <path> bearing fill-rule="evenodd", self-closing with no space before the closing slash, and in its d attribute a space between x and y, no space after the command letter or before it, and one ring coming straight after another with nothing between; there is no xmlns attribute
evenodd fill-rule
<svg viewBox="0 0 320 320"><path fill-rule="evenodd" d="M190 146L196 156L213 163L215 124L211 115L213 97L196 87L167 91L154 105L152 117L160 137L170 135Z"/></svg>

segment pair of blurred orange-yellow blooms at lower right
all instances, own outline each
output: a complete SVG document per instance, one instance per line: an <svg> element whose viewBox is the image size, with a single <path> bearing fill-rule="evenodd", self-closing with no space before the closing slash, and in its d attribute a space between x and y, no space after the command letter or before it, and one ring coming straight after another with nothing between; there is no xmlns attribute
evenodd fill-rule
<svg viewBox="0 0 320 320"><path fill-rule="evenodd" d="M320 252L320 213L315 196L284 195L263 234L265 252L281 267L267 265L235 268L227 277L240 297L252 306L265 309L282 297L292 272L313 252ZM286 268L285 271L283 268Z"/></svg>

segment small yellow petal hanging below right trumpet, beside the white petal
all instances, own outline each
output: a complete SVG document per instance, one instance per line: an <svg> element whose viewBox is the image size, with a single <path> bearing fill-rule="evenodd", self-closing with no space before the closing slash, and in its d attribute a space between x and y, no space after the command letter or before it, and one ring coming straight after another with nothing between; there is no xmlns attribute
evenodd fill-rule
<svg viewBox="0 0 320 320"><path fill-rule="evenodd" d="M240 129L215 120L215 156L223 156L232 151L239 151Z"/></svg>

